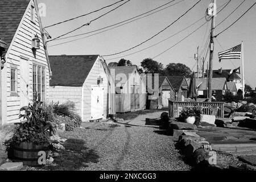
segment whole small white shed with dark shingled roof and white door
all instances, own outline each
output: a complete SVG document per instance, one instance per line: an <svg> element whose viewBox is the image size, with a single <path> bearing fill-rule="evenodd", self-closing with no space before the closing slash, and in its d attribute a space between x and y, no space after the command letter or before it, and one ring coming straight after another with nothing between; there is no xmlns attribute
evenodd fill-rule
<svg viewBox="0 0 256 182"><path fill-rule="evenodd" d="M49 100L75 102L82 121L115 113L114 79L99 55L49 56L52 67Z"/></svg>

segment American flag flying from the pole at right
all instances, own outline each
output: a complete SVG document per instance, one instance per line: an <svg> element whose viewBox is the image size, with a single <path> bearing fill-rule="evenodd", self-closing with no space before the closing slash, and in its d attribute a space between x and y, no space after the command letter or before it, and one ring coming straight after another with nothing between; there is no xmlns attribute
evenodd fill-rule
<svg viewBox="0 0 256 182"><path fill-rule="evenodd" d="M220 61L222 59L241 59L241 44L226 51L219 52L218 59Z"/></svg>

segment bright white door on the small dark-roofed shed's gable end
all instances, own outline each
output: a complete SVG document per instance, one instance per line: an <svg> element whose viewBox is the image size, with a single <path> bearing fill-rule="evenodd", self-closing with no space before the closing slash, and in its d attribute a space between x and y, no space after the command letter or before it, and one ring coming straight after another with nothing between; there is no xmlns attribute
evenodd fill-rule
<svg viewBox="0 0 256 182"><path fill-rule="evenodd" d="M104 118L104 86L92 85L91 120Z"/></svg>

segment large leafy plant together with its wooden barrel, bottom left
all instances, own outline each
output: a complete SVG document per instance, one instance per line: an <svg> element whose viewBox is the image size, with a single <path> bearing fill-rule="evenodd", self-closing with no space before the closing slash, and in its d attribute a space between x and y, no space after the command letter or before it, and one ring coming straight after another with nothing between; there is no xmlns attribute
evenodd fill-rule
<svg viewBox="0 0 256 182"><path fill-rule="evenodd" d="M45 164L49 151L53 127L42 104L38 96L38 101L34 100L33 105L20 108L24 114L20 114L19 118L26 121L16 123L13 136L4 142L9 157L27 166Z"/></svg>

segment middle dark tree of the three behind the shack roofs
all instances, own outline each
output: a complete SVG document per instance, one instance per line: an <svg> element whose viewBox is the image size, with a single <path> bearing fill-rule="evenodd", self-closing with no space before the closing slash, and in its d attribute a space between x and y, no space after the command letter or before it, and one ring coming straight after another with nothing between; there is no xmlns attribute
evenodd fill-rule
<svg viewBox="0 0 256 182"><path fill-rule="evenodd" d="M141 62L141 66L145 73L163 73L163 64L154 61L151 58L146 58Z"/></svg>

